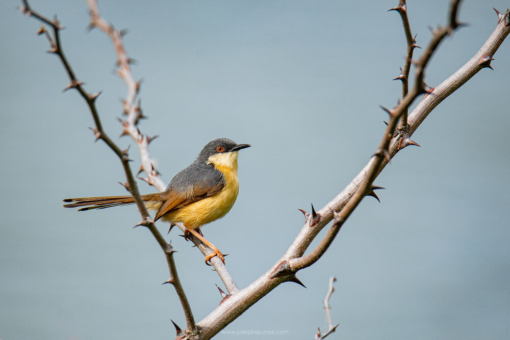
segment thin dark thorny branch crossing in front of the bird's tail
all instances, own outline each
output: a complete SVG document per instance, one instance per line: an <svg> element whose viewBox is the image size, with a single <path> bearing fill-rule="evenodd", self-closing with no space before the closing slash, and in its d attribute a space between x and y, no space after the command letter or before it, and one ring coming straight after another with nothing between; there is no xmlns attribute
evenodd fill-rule
<svg viewBox="0 0 510 340"><path fill-rule="evenodd" d="M95 128L92 129L95 133L96 140L102 139L103 141L105 141L105 143L115 152L115 154L117 154L117 156L121 160L122 166L124 167L124 172L125 172L125 175L127 178L127 182L123 183L123 185L135 197L135 201L138 206L138 210L140 211L140 213L142 215L142 221L138 225L146 226L150 230L152 235L154 235L154 237L158 241L159 245L165 252L165 256L166 256L167 263L168 263L168 268L170 271L170 279L168 279L168 281L165 283L171 283L175 287L175 291L177 292L177 295L179 296L179 299L181 300L181 304L183 306L188 331L191 334L195 333L197 329L196 329L195 320L193 318L193 313L191 311L191 307L189 305L189 302L188 302L188 299L184 292L184 289L181 285L179 275L177 275L177 269L175 267L175 263L173 260L173 252L175 250L173 250L173 247L165 241L164 237L161 235L159 230L156 228L156 224L150 218L149 213L148 213L147 209L145 208L145 204L143 203L143 201L140 197L140 193L138 191L138 186L136 184L136 180L133 176L133 173L131 171L131 167L129 164L129 162L131 161L131 159L129 159L129 156L128 156L129 148L125 149L125 150L121 150L110 139L110 137L106 134L106 132L103 130L103 126L101 125L101 122L99 119L99 114L98 114L97 108L95 106L95 100L97 99L99 93L96 95L89 94L83 88L83 83L81 81L79 81L78 78L75 76L75 74L74 74L65 54L64 54L64 51L62 50L62 46L60 43L60 30L62 30L62 26L60 26L60 23L57 20L57 18L55 18L53 21L51 21L51 20L45 18L44 16L38 14L37 12L34 12L34 10L32 10L32 8L30 7L27 0L22 0L22 3L23 3L23 7L20 8L22 13L24 13L28 16L33 16L36 19L40 20L41 22L43 22L46 25L51 26L53 28L53 31L54 31L53 38L47 33L47 31L44 29L44 27L42 27L38 33L46 34L46 37L48 38L50 46L51 46L50 52L57 54L59 56L60 60L62 61L62 64L64 65L64 68L67 71L67 74L70 79L70 84L68 87L66 87L64 89L64 91L74 88L85 99L85 101L87 102L87 105L89 106L90 112L92 114L92 117L94 119L94 123L96 126Z"/></svg>

